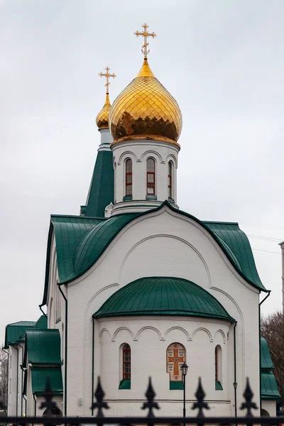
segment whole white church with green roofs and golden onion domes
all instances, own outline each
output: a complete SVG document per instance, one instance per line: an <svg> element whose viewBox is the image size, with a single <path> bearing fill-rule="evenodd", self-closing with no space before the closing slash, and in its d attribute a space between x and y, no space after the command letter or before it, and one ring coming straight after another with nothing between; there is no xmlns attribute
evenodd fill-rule
<svg viewBox="0 0 284 426"><path fill-rule="evenodd" d="M10 415L43 415L47 376L63 415L92 415L98 376L108 415L140 415L151 376L160 414L181 416L184 363L187 415L199 377L211 416L241 415L247 377L258 408L275 415L279 394L259 336L267 290L236 222L179 209L182 114L146 49L112 106L107 68L87 202L79 215L51 216L47 317L6 327Z"/></svg>

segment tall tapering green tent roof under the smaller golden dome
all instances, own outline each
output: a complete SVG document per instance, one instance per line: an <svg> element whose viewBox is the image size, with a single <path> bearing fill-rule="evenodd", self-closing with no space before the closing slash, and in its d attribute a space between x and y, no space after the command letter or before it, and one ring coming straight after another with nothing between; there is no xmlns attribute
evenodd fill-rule
<svg viewBox="0 0 284 426"><path fill-rule="evenodd" d="M88 217L104 218L104 209L114 202L113 158L110 150L97 153L85 210Z"/></svg>

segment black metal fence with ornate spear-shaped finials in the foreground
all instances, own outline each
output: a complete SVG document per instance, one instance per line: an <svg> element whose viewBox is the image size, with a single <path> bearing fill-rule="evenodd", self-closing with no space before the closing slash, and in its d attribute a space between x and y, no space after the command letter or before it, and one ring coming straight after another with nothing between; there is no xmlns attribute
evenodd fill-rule
<svg viewBox="0 0 284 426"><path fill-rule="evenodd" d="M148 388L145 393L146 402L143 403L141 410L146 410L144 416L128 416L128 417L107 417L106 410L109 409L107 401L104 400L104 390L98 378L97 389L94 393L94 403L92 404L92 412L96 411L93 416L89 417L59 417L55 413L59 413L59 408L53 400L53 391L50 388L50 381L47 380L45 392L43 393L44 401L40 408L45 408L43 417L2 417L0 423L6 425L281 425L284 426L284 417L254 417L253 410L258 410L256 403L253 402L253 393L249 385L249 379L246 381L246 389L244 391L244 402L241 404L240 410L244 410L243 417L205 417L204 410L210 410L209 404L204 400L205 393L202 388L201 379L199 380L197 391L195 393L196 401L192 404L192 410L197 410L195 417L163 417L156 416L155 410L160 407L155 401L155 391L153 389L151 378L149 378ZM0 400L0 410L4 408Z"/></svg>

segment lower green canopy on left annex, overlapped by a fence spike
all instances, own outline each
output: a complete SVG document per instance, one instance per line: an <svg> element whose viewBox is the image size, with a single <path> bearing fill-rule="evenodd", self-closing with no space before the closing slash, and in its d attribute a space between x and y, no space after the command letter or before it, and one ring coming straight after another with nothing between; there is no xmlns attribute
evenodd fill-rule
<svg viewBox="0 0 284 426"><path fill-rule="evenodd" d="M50 388L55 396L63 395L61 367L31 367L31 388L34 395L43 395L46 379L50 379Z"/></svg>

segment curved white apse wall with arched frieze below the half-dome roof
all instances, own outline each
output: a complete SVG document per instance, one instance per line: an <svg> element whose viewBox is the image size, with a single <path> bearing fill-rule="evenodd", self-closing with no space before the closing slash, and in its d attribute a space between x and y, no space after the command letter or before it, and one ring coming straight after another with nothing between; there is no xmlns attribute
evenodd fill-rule
<svg viewBox="0 0 284 426"><path fill-rule="evenodd" d="M102 352L101 378L107 399L143 398L149 376L152 377L158 400L182 399L182 390L169 389L170 378L166 372L166 350L170 344L178 342L185 347L185 358L189 366L187 398L190 400L195 398L198 377L202 374L207 399L228 400L226 377L228 323L187 317L132 317L129 324L129 317L124 317L121 320L115 318L99 320L99 326ZM129 390L119 390L119 383L123 378L119 354L123 344L129 344L131 347L132 374ZM222 346L223 391L215 390L214 349L217 344ZM112 401L111 404L114 405ZM178 415L178 411L175 413Z"/></svg>

